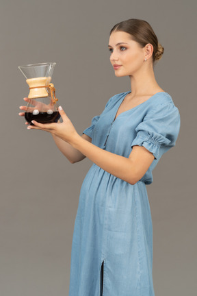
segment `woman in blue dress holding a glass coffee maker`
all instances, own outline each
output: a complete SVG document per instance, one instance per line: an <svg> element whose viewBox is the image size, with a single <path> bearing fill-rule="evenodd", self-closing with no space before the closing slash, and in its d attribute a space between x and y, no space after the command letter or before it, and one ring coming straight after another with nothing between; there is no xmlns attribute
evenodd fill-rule
<svg viewBox="0 0 197 296"><path fill-rule="evenodd" d="M109 51L115 75L128 75L132 91L111 97L82 136L61 107L62 123L33 121L27 128L50 132L70 162L86 157L93 162L75 219L69 296L153 296L146 184L153 182L159 158L176 143L180 114L156 82L153 67L163 47L146 21L116 24Z"/></svg>

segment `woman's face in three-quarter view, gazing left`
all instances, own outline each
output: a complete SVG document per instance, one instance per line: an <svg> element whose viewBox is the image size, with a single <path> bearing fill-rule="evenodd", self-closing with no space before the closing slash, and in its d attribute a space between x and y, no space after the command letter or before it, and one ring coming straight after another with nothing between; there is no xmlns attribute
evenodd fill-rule
<svg viewBox="0 0 197 296"><path fill-rule="evenodd" d="M121 44L119 44L121 43ZM142 68L145 58L144 47L131 40L131 35L122 32L112 32L109 37L110 62L114 67L115 75L133 75Z"/></svg>

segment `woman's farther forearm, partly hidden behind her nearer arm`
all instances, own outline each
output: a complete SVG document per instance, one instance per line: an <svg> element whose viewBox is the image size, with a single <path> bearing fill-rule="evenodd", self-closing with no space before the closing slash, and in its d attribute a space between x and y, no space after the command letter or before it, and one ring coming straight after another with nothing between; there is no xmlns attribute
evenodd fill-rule
<svg viewBox="0 0 197 296"><path fill-rule="evenodd" d="M57 145L58 149L66 156L66 158L71 162L79 162L86 158L86 156L83 155L79 150L75 149L72 145L66 143L61 138L53 135L53 139L55 141L55 144Z"/></svg>

